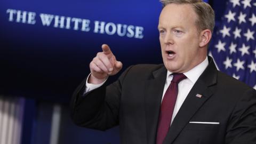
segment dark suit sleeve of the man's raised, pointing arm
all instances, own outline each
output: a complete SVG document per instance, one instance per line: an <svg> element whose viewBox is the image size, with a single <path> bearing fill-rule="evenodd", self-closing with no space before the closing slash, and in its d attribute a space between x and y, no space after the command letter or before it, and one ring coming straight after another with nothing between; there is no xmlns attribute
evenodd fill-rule
<svg viewBox="0 0 256 144"><path fill-rule="evenodd" d="M103 84L83 95L86 79L77 87L71 98L71 119L79 126L107 130L118 125L122 83L131 67L110 85Z"/></svg>

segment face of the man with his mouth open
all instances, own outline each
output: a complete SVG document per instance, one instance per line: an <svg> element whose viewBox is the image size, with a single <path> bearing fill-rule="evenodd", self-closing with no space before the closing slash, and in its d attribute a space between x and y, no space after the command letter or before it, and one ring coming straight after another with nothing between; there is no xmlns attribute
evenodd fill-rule
<svg viewBox="0 0 256 144"><path fill-rule="evenodd" d="M163 62L173 73L185 73L206 58L199 47L197 15L189 4L168 4L159 17L159 39Z"/></svg>

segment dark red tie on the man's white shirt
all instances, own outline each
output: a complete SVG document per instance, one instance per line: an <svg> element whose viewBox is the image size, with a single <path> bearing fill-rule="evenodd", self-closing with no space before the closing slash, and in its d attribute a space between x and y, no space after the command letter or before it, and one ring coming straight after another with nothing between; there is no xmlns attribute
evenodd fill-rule
<svg viewBox="0 0 256 144"><path fill-rule="evenodd" d="M178 95L178 83L186 78L183 74L173 73L172 82L167 88L161 105L160 115L158 117L156 143L162 144L170 128L172 114Z"/></svg>

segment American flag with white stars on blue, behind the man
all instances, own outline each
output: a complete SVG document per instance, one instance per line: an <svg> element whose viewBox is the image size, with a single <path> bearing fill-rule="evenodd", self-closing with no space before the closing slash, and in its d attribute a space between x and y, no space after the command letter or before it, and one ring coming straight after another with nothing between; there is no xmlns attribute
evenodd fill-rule
<svg viewBox="0 0 256 144"><path fill-rule="evenodd" d="M220 71L256 89L256 0L229 0L209 47Z"/></svg>

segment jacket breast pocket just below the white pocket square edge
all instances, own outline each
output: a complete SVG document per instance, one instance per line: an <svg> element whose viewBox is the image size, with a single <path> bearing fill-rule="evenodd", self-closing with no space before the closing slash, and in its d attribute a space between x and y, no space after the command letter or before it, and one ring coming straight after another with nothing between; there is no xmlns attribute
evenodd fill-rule
<svg viewBox="0 0 256 144"><path fill-rule="evenodd" d="M189 123L186 126L187 130L194 131L218 131L220 124L202 124L202 123Z"/></svg>

